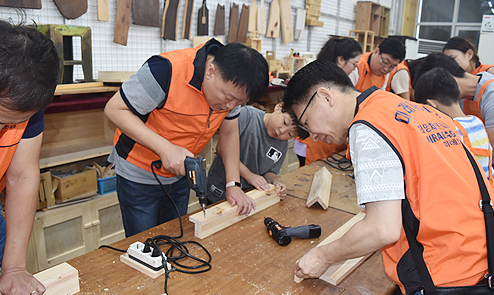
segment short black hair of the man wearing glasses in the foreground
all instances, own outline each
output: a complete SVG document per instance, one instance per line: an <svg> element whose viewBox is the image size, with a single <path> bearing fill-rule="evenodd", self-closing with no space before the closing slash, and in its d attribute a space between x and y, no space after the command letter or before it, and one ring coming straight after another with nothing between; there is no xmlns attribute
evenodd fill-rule
<svg viewBox="0 0 494 295"><path fill-rule="evenodd" d="M310 91L319 85L325 85L330 89L338 88L341 92L357 91L340 67L333 62L317 59L298 70L288 82L283 96L283 112L288 112L297 120L293 106L307 102L313 94ZM309 136L301 128L298 128L297 133L301 139Z"/></svg>

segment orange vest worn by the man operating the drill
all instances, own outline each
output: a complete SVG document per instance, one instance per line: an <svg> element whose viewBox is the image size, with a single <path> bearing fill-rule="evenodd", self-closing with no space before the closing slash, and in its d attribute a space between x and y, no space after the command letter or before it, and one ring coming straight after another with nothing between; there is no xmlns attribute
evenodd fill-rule
<svg viewBox="0 0 494 295"><path fill-rule="evenodd" d="M165 91L168 97L163 108L153 110L147 116L147 120L144 118L143 121L151 130L171 143L197 155L229 113L229 110L211 110L204 96L202 81L197 82L197 76L204 75L197 72L198 69L204 71L204 64L195 67L193 62L196 58L206 62L206 45L164 52L160 57L171 63L170 88ZM120 157L146 171L152 172L151 163L159 160L155 152L130 139L118 128L113 144ZM175 175L163 167L155 169L155 172L165 177Z"/></svg>

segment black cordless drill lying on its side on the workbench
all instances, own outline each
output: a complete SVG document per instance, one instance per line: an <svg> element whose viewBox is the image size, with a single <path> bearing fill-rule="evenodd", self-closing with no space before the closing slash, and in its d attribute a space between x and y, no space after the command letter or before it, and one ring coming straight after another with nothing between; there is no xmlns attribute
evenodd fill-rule
<svg viewBox="0 0 494 295"><path fill-rule="evenodd" d="M269 235L281 246L290 244L293 238L312 239L321 236L321 227L315 224L303 225L299 227L285 227L274 221L270 217L264 218L264 224Z"/></svg>

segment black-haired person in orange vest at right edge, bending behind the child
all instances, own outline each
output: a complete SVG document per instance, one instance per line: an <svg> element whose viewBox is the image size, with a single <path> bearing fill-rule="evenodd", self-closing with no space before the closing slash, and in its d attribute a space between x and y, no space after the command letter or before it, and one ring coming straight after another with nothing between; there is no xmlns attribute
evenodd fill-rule
<svg viewBox="0 0 494 295"><path fill-rule="evenodd" d="M414 83L433 68L443 68L453 75L463 99L460 102L463 112L477 116L484 122L489 141L494 146L494 75L489 72L472 75L444 53L431 53L420 62L413 78Z"/></svg>

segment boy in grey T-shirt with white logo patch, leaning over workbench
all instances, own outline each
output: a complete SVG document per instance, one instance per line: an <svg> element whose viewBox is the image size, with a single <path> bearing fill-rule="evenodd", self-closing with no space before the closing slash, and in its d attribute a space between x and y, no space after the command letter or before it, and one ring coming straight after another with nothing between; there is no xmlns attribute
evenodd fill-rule
<svg viewBox="0 0 494 295"><path fill-rule="evenodd" d="M295 125L289 114L281 112L281 103L274 112L266 113L253 106L244 106L238 117L240 134L240 180L244 190L256 188L270 190L273 184L281 199L286 196L286 185L277 174L288 151L288 139L295 137ZM218 143L213 164L208 172L208 200L216 203L225 199L225 190L235 183L227 183L222 155L224 148Z"/></svg>

